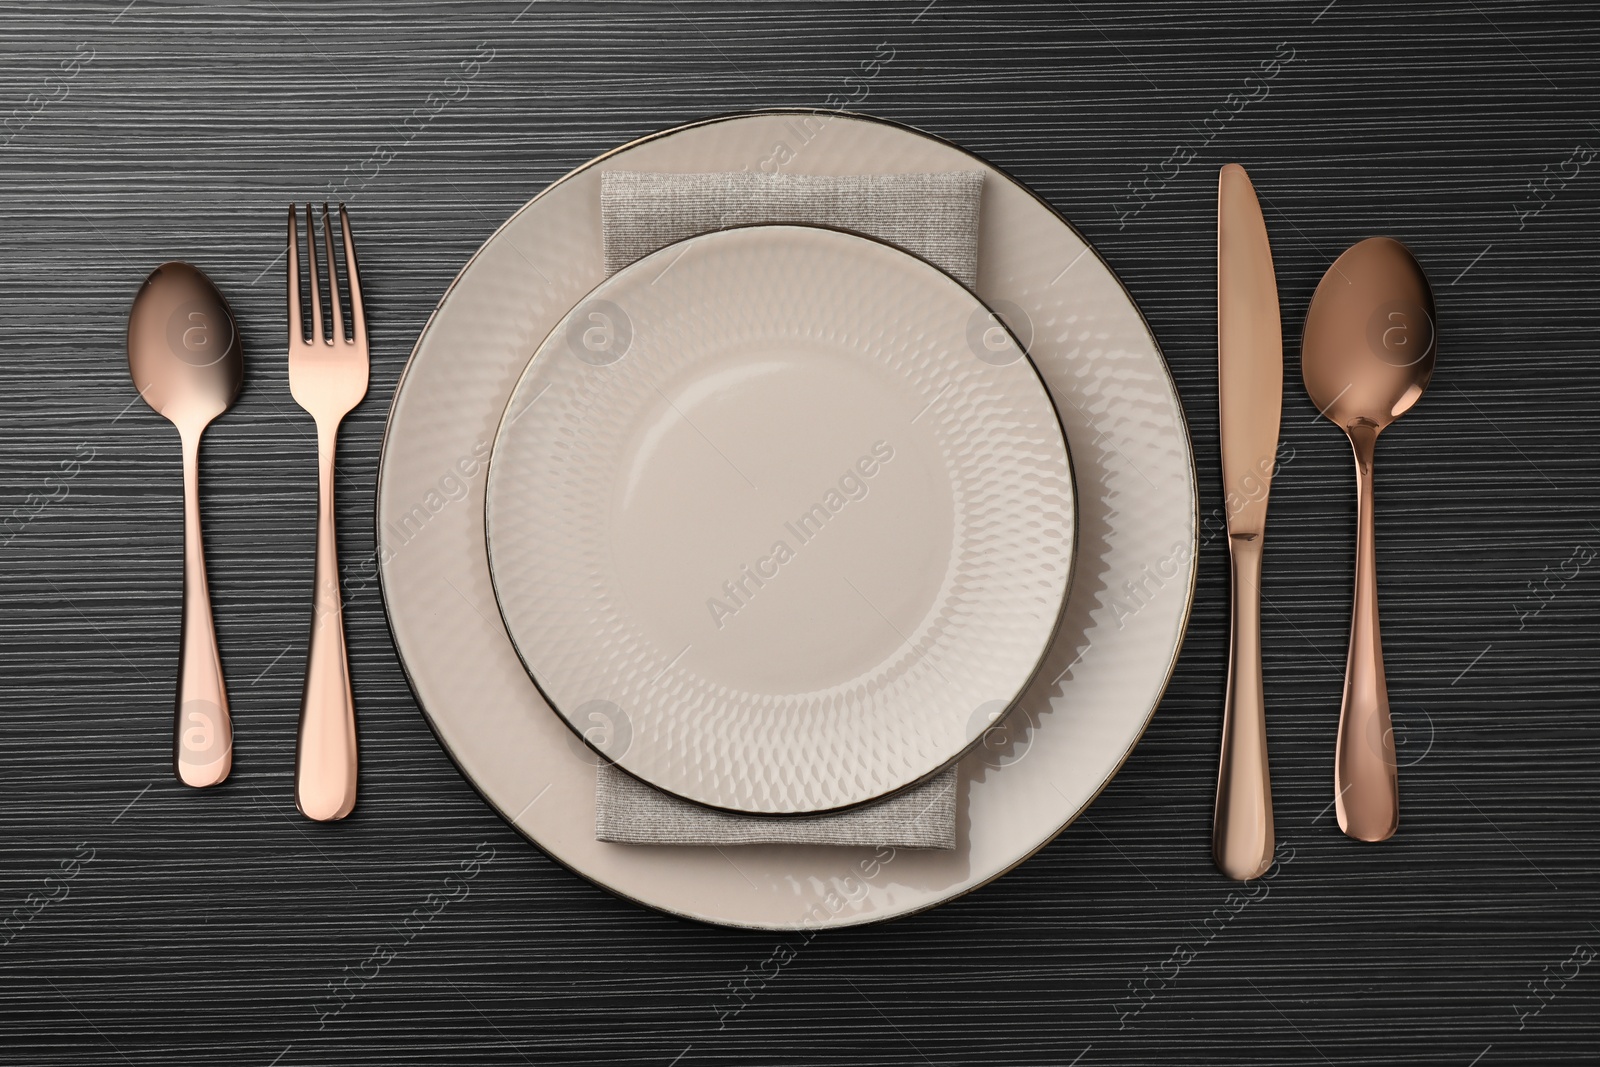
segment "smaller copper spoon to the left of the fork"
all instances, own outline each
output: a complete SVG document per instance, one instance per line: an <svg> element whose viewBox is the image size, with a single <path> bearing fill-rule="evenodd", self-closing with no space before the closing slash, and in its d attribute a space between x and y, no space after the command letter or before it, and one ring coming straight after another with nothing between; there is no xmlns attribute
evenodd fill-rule
<svg viewBox="0 0 1600 1067"><path fill-rule="evenodd" d="M165 262L139 286L128 312L128 370L144 402L182 438L184 621L173 769L186 785L216 785L234 766L234 728L200 541L200 435L238 395L245 357L234 312L197 267Z"/></svg>

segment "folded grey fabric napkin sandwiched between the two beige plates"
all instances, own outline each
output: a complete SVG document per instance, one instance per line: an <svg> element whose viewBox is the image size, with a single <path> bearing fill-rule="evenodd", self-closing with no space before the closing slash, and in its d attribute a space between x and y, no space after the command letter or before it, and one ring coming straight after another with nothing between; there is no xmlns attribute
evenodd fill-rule
<svg viewBox="0 0 1600 1067"><path fill-rule="evenodd" d="M659 174L600 176L606 274L680 242L730 226L806 222L896 245L978 282L982 171L947 174ZM629 845L866 845L955 848L950 768L877 803L811 817L712 811L602 763L595 838Z"/></svg>

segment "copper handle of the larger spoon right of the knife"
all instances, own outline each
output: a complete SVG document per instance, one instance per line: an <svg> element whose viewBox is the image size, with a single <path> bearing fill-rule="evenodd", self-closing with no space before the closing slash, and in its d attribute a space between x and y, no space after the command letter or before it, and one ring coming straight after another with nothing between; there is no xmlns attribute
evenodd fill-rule
<svg viewBox="0 0 1600 1067"><path fill-rule="evenodd" d="M1378 427L1347 429L1355 450L1355 606L1333 784L1339 829L1360 841L1382 841L1400 825L1395 737L1378 632L1378 545L1373 531L1373 451Z"/></svg>

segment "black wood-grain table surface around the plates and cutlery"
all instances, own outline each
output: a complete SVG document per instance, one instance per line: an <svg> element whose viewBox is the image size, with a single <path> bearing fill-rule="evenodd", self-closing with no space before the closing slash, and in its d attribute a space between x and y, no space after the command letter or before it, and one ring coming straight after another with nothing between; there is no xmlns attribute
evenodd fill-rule
<svg viewBox="0 0 1600 1067"><path fill-rule="evenodd" d="M1597 45L1578 0L0 3L0 1062L1594 1062ZM1208 514L1216 168L1250 166L1291 362L1264 625L1293 859L1248 902L1210 859L1216 536L1166 701L1088 817L907 921L714 929L562 870L435 744L360 581L360 806L294 814L315 451L283 206L333 186L363 253L354 573L394 382L506 216L638 134L830 96L973 149L1096 242L1171 362ZM1354 490L1293 370L1317 280L1371 234L1418 253L1442 336L1378 462L1405 763L1381 846L1328 806ZM123 352L165 259L222 286L248 358L203 458L237 729L203 795L168 771L178 438Z"/></svg>

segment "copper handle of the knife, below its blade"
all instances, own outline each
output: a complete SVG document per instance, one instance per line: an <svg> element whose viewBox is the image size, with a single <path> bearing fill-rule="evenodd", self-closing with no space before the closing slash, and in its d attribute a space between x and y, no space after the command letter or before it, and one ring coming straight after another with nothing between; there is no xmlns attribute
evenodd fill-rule
<svg viewBox="0 0 1600 1067"><path fill-rule="evenodd" d="M1227 539L1234 617L1211 854L1218 870L1240 881L1262 873L1272 864L1274 848L1267 709L1261 688L1261 534Z"/></svg>

